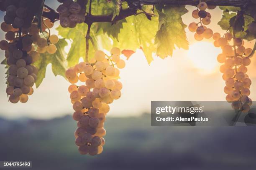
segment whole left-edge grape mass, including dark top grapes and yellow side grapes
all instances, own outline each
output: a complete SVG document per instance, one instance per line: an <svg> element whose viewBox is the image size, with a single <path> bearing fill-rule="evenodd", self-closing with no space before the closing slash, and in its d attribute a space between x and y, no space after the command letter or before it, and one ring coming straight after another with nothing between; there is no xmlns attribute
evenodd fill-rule
<svg viewBox="0 0 256 170"><path fill-rule="evenodd" d="M5 39L0 41L0 49L5 50L8 65L6 93L12 103L27 102L28 95L33 94L33 85L37 79L38 69L33 64L40 53L56 52L54 45L59 41L56 35L44 38L46 28L52 28L49 19L42 18L43 27L40 35L34 14L27 9L28 1L5 0L1 10L6 11L1 29L6 32ZM33 23L33 24L32 24Z"/></svg>

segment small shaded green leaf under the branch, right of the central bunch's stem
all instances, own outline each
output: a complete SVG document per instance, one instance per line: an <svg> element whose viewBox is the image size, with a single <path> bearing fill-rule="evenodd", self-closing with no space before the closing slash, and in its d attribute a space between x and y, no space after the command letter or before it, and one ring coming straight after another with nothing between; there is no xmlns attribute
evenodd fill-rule
<svg viewBox="0 0 256 170"><path fill-rule="evenodd" d="M123 23L126 23L127 21L125 19L117 21L116 23L95 23L95 29L96 34L100 35L102 34L101 30L103 31L103 34L107 33L109 37L113 37L118 40L118 34L120 33L120 30L123 28Z"/></svg>

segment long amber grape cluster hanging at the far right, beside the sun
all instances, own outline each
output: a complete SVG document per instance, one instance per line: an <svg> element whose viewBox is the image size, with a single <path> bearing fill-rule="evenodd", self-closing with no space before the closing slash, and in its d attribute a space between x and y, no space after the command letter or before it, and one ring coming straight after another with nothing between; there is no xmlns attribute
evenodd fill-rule
<svg viewBox="0 0 256 170"><path fill-rule="evenodd" d="M241 38L233 37L231 33L226 33L224 37L220 37L219 33L214 33L215 46L222 48L222 53L218 55L220 72L223 73L223 80L226 86L224 92L227 94L226 100L232 103L235 110L248 112L252 100L250 95L251 79L246 74L248 65L251 64L249 58L252 49L245 48L244 41ZM232 43L233 44L230 45Z"/></svg>

